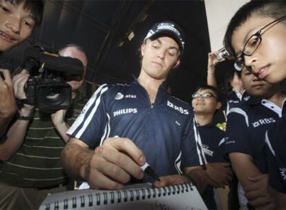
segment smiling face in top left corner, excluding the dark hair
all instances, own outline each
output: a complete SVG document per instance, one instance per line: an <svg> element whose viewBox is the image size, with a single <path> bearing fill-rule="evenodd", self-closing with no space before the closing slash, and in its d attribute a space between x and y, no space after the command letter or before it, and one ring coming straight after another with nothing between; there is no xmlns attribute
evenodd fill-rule
<svg viewBox="0 0 286 210"><path fill-rule="evenodd" d="M0 52L6 52L27 39L35 26L29 10L19 5L0 0Z"/></svg>

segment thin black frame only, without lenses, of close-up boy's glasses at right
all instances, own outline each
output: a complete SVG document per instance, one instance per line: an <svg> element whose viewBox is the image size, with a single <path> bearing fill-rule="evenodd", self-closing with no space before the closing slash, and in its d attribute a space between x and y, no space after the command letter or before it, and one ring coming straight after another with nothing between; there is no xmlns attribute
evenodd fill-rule
<svg viewBox="0 0 286 210"><path fill-rule="evenodd" d="M265 28L267 28L268 26L270 26L271 24L276 23L276 22L278 23L278 22L282 21L282 20L285 19L285 18L286 18L286 15L284 15L283 17L279 17L278 19L275 19L274 21L271 21L270 23L267 23L266 26L263 26L263 28L260 28L260 30L258 30L256 33L254 33L253 35L251 35L251 36L247 39L247 41L245 41L245 45L243 46L241 55L240 55L239 57L236 57L236 59L235 59L235 61L234 61L234 68L236 68L236 70L242 70L242 68L245 67L245 59L244 59L245 55L246 55L246 56L251 56L251 55L253 55L253 54L256 52L256 50L258 49L258 47L260 46L261 41L262 41L261 31L264 30ZM259 39L259 44L256 46L256 48L253 50L252 53L245 53L245 47L246 47L247 44L249 43L249 40L251 39L251 37L254 37L254 36L258 37L258 39ZM238 66L238 64L237 64L238 58L240 58L241 61L243 62L242 68L240 68L240 67ZM242 63L242 62L240 62L240 63Z"/></svg>

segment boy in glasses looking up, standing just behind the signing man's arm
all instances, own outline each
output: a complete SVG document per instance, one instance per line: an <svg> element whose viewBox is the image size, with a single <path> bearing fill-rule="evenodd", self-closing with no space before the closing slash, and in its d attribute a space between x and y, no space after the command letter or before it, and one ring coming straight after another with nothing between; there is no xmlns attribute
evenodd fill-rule
<svg viewBox="0 0 286 210"><path fill-rule="evenodd" d="M196 117L197 131L202 142L202 151L207 159L208 187L202 198L208 209L221 209L215 188L225 188L232 179L229 162L224 156L225 131L213 123L213 116L222 106L218 90L209 85L200 86L192 95L191 105Z"/></svg>

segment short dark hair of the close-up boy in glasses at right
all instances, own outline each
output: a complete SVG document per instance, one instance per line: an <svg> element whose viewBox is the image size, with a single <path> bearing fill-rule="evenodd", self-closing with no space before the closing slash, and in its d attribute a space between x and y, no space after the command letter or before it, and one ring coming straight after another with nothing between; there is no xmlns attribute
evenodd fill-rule
<svg viewBox="0 0 286 210"><path fill-rule="evenodd" d="M239 8L227 26L227 31L225 32L225 38L223 41L227 51L233 56L235 56L233 47L231 45L233 32L243 23L245 23L245 21L247 21L252 15L278 19L283 15L286 15L286 1L250 1Z"/></svg>

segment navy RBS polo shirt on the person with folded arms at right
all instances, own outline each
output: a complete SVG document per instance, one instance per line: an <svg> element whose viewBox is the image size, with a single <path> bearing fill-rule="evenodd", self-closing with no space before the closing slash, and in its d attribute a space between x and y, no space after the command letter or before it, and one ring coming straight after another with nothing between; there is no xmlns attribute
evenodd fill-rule
<svg viewBox="0 0 286 210"><path fill-rule="evenodd" d="M282 109L266 99L250 97L229 110L225 153L250 155L261 173L267 173L265 131L282 116Z"/></svg>

